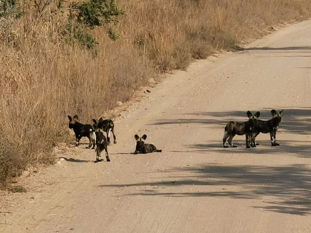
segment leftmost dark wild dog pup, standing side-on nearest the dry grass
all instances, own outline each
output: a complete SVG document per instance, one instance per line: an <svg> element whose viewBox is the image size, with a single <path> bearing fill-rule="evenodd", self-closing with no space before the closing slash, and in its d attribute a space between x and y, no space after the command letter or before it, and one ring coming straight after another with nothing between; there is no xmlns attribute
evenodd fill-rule
<svg viewBox="0 0 311 233"><path fill-rule="evenodd" d="M79 146L80 144L80 139L82 137L87 137L89 140L88 148L91 148L92 143L93 147L92 149L95 148L95 139L96 135L94 133L94 130L91 125L84 125L78 122L79 117L77 115L74 115L73 118L71 116L68 116L69 119L69 129L73 129L74 134L76 135L76 147Z"/></svg>

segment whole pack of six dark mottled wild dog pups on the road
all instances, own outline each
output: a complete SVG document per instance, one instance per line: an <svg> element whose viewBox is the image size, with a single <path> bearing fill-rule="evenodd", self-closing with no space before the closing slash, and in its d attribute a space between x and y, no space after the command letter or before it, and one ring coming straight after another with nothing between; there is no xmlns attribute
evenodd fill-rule
<svg viewBox="0 0 311 233"><path fill-rule="evenodd" d="M234 146L232 143L233 137L237 135L244 135L246 138L246 148L256 147L259 144L256 143L255 139L259 133L270 133L271 146L279 146L276 143L276 131L278 129L279 123L281 122L282 112L279 113L276 110L271 110L272 119L270 120L259 120L260 112L252 115L250 111L247 111L248 121L240 123L236 121L230 121L225 126L225 133L223 137L223 146L227 148L226 141L231 147ZM80 139L82 137L87 137L89 139L88 147L95 149L96 146L96 160L94 162L103 161L101 153L105 150L106 160L110 161L107 146L110 144L110 133L113 134L113 143L117 143L116 134L114 132L114 123L111 119L100 118L98 121L92 119L93 125L82 124L79 122L79 117L74 115L73 117L68 116L69 128L73 129L76 136L76 147L79 146ZM107 138L104 133L106 133ZM151 152L161 152L162 150L157 150L153 144L146 144L147 135L144 134L139 137L138 134L134 135L136 140L136 149L134 154L138 153L151 153ZM92 147L93 145L93 147Z"/></svg>

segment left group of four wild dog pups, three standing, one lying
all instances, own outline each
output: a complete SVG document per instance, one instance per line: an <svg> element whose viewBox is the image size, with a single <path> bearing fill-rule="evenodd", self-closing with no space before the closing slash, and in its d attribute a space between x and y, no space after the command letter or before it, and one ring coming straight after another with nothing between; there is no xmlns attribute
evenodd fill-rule
<svg viewBox="0 0 311 233"><path fill-rule="evenodd" d="M113 134L113 143L117 143L117 137L114 131L115 125L111 119L103 119L102 117L97 121L92 119L93 125L82 124L79 122L79 117L74 115L73 117L68 116L69 119L69 129L73 129L73 132L76 136L76 147L80 144L80 139L82 137L87 137L89 140L87 149L95 149L96 145L96 160L95 163L103 161L101 153L105 150L106 160L110 162L107 146L110 144L110 133ZM107 134L107 138L104 133ZM147 135L144 134L142 137L139 137L137 134L134 136L136 140L136 149L135 154L138 153L151 153L151 152L161 152L162 150L157 150L154 145L146 144Z"/></svg>

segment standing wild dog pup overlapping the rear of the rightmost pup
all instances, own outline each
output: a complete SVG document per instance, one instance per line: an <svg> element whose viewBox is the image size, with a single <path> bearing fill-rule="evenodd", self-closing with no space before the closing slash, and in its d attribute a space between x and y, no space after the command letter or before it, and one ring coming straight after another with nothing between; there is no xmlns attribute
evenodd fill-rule
<svg viewBox="0 0 311 233"><path fill-rule="evenodd" d="M238 135L244 135L245 134L245 140L246 140L246 148L250 148L250 139L251 139L251 133L254 131L257 125L257 118L260 116L260 112L257 112L255 115L252 115L250 111L247 111L247 117L248 121L239 123L236 121L230 121L225 126L225 133L223 137L223 146L224 148L227 148L225 145L226 140L228 139L228 143L231 147L237 147L234 146L232 143L232 138L238 134Z"/></svg>

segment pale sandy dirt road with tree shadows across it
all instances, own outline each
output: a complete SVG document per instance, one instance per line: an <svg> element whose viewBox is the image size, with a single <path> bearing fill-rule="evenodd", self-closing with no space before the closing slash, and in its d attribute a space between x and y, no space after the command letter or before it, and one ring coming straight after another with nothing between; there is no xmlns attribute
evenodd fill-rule
<svg viewBox="0 0 311 233"><path fill-rule="evenodd" d="M167 77L116 123L111 162L94 151L64 154L0 214L7 233L310 233L311 20L248 50L198 61ZM223 149L229 120L246 111L277 132L260 146ZM133 155L134 134L162 153ZM72 142L74 138L72 137Z"/></svg>

